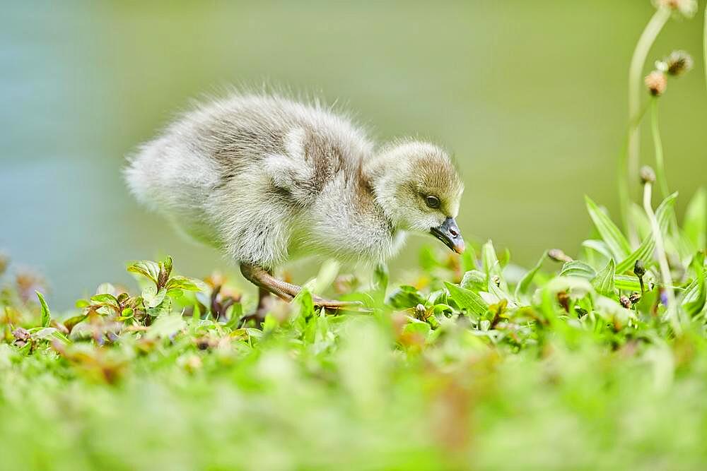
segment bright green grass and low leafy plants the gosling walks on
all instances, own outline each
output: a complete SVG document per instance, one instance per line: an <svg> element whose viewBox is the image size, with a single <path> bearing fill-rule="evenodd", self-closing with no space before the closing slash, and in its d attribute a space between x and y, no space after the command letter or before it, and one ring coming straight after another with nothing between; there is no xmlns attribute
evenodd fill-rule
<svg viewBox="0 0 707 471"><path fill-rule="evenodd" d="M329 262L262 325L169 257L61 314L0 261L0 470L702 470L707 196L679 221L644 177L632 234L587 198L573 257L428 248L395 285Z"/></svg>

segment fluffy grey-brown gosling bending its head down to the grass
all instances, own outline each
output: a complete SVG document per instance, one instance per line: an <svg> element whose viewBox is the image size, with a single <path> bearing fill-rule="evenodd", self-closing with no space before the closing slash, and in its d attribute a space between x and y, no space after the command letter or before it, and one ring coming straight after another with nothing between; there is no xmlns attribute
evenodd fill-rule
<svg viewBox="0 0 707 471"><path fill-rule="evenodd" d="M464 185L448 154L413 139L376 148L318 102L252 94L199 105L141 145L125 177L141 203L239 263L259 308L269 293L298 294L272 273L302 256L381 263L408 232L464 251Z"/></svg>

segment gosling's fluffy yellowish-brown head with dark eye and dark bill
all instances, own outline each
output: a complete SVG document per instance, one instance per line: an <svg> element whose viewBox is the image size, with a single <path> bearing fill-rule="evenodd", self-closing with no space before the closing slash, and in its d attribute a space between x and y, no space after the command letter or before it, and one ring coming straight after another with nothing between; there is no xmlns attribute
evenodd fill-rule
<svg viewBox="0 0 707 471"><path fill-rule="evenodd" d="M455 221L464 184L444 150L419 141L382 149L375 159L373 188L397 229L432 234L453 251L464 251Z"/></svg>

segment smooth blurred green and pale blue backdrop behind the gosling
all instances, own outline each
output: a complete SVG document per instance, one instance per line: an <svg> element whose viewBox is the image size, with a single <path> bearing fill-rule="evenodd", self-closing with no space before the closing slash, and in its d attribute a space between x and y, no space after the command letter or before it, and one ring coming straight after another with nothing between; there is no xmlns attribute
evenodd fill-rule
<svg viewBox="0 0 707 471"><path fill-rule="evenodd" d="M617 213L626 75L652 13L648 0L4 1L0 250L44 273L57 307L129 281L130 259L228 268L140 208L120 169L190 99L265 82L344 102L382 140L450 148L467 239L525 264L553 246L573 254L590 230L583 194ZM675 45L696 59L660 102L682 210L705 182L701 22L668 23L650 64Z"/></svg>

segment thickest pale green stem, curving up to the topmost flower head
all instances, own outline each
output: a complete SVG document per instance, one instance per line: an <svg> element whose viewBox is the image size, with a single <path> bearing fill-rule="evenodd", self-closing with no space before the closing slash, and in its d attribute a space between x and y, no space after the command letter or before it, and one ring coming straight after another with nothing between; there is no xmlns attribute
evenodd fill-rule
<svg viewBox="0 0 707 471"><path fill-rule="evenodd" d="M645 25L641 37L638 38L636 49L633 50L631 66L629 67L629 119L636 117L638 109L641 106L641 76L643 74L643 67L645 66L645 58L648 56L648 52L650 51L650 47L653 46L655 38L658 37L658 33L660 33L660 30L662 30L662 27L670 18L670 13L670 8L660 6L658 10L653 13L650 21L648 21L648 25ZM631 189L635 188L632 184L633 179L637 179L636 176L638 175L640 147L641 133L639 132L638 125L636 125L635 128L629 128L629 150L626 168L628 179L622 183L622 185L626 185L622 191L629 196L631 195ZM629 208L626 207L624 210L628 213Z"/></svg>

